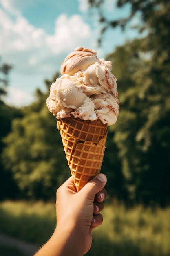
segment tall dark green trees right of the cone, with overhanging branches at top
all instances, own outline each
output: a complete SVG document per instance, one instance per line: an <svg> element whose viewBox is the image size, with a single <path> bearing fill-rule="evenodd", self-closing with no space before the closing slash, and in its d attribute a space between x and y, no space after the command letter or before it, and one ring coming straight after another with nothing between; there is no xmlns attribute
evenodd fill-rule
<svg viewBox="0 0 170 256"><path fill-rule="evenodd" d="M97 8L104 1L89 1ZM100 10L104 24L125 29L141 13L139 32L147 35L117 47L107 56L118 79L120 115L110 130L118 148L124 187L128 198L166 205L169 202L169 11L170 2L160 0L119 0L118 7L131 4L130 16L110 20Z"/></svg>

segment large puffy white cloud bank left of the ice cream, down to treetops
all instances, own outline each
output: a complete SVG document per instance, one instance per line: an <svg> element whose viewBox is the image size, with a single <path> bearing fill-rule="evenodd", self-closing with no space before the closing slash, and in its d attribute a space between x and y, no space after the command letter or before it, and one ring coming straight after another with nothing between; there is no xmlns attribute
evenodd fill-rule
<svg viewBox="0 0 170 256"><path fill-rule="evenodd" d="M95 32L80 15L68 17L63 13L57 17L50 35L22 16L18 9L21 0L16 0L16 5L13 0L0 1L0 56L2 62L13 65L15 74L5 102L22 106L31 102L31 94L43 85L44 78L50 79L60 71L61 62L70 51L78 46L96 48Z"/></svg>

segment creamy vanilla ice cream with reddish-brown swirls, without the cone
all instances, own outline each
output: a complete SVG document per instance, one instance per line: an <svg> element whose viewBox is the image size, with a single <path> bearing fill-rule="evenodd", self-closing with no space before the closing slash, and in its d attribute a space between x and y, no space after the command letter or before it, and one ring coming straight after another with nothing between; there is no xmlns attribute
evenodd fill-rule
<svg viewBox="0 0 170 256"><path fill-rule="evenodd" d="M58 119L74 116L83 120L100 119L112 125L119 115L117 79L110 61L91 49L78 47L61 65L60 78L51 85L47 107Z"/></svg>

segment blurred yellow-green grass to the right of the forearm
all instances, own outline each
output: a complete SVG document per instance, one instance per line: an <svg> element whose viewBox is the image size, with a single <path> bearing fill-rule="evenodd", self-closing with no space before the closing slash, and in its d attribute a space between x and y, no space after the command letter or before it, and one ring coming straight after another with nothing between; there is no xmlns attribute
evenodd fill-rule
<svg viewBox="0 0 170 256"><path fill-rule="evenodd" d="M86 256L169 256L170 208L107 206ZM100 245L100 246L98 246ZM107 253L106 253L107 252Z"/></svg>

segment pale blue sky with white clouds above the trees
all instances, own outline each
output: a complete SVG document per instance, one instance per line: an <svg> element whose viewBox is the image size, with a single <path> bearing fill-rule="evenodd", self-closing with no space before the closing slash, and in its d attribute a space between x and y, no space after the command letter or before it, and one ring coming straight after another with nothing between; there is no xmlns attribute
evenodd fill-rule
<svg viewBox="0 0 170 256"><path fill-rule="evenodd" d="M129 6L117 9L115 2L105 1L107 17L128 16ZM4 101L16 107L29 105L37 88L46 90L44 79L60 72L65 57L79 46L104 58L136 36L132 29L110 29L99 48L100 28L97 11L89 9L87 0L0 0L0 64L13 66Z"/></svg>

